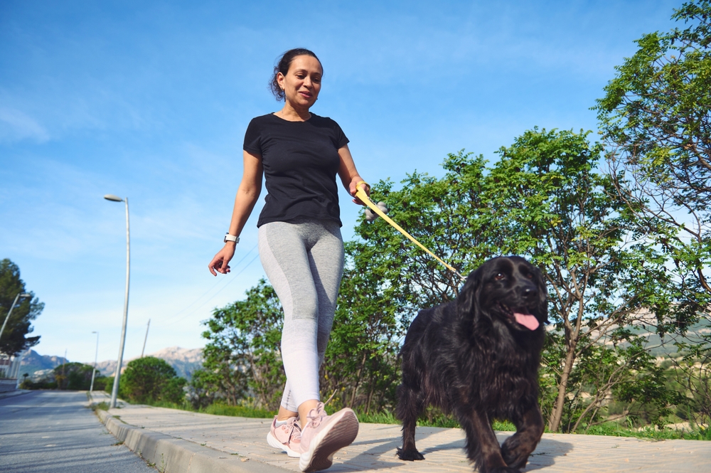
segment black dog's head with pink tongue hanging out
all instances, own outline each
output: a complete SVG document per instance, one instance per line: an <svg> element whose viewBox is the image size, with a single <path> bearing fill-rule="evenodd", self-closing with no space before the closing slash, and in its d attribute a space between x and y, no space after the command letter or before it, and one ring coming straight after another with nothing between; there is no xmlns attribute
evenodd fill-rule
<svg viewBox="0 0 711 473"><path fill-rule="evenodd" d="M515 331L548 322L547 289L537 267L520 256L495 257L466 278L459 311L499 319Z"/></svg>

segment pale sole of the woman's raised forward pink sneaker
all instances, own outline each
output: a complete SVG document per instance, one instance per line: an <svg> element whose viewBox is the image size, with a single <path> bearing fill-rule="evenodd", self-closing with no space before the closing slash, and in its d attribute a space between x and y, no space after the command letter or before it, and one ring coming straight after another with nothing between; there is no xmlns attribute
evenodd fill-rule
<svg viewBox="0 0 711 473"><path fill-rule="evenodd" d="M318 472L331 467L333 454L351 445L358 436L358 418L353 410L341 409L333 417L336 419L311 439L309 451L301 454L299 468L302 472Z"/></svg>

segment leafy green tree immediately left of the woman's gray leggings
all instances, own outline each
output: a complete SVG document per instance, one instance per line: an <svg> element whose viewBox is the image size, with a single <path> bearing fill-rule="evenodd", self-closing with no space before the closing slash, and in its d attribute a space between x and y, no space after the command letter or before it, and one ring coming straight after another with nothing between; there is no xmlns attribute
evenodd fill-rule
<svg viewBox="0 0 711 473"><path fill-rule="evenodd" d="M283 318L279 298L264 280L247 290L247 299L215 309L204 322L208 343L199 388L230 405L251 396L257 407L278 408L286 381L279 349Z"/></svg>

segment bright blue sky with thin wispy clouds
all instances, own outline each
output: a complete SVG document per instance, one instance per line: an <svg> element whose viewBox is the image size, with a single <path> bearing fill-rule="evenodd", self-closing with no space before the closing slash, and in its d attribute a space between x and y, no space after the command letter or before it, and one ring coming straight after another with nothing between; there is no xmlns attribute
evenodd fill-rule
<svg viewBox="0 0 711 473"><path fill-rule="evenodd" d="M117 356L128 196L125 356L203 346L201 321L263 276L256 220L232 273L222 246L252 117L277 56L324 64L312 109L336 119L368 181L441 175L534 126L596 129L589 110L680 1L0 1L0 258L46 303L36 350ZM262 196L263 198L263 196ZM341 193L343 234L360 207ZM241 262L240 262L241 261Z"/></svg>

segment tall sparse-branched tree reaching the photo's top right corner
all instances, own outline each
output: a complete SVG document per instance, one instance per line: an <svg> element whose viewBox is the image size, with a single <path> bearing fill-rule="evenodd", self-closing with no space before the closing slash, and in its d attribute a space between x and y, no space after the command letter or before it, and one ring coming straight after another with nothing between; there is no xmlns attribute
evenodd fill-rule
<svg viewBox="0 0 711 473"><path fill-rule="evenodd" d="M708 310L711 3L683 4L672 18L688 27L638 39L595 108L615 190L668 253L679 284Z"/></svg>

